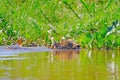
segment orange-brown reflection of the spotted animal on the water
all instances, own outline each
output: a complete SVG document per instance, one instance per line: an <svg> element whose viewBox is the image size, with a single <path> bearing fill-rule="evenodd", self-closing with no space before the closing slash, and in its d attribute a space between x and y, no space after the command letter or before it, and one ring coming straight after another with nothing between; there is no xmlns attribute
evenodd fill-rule
<svg viewBox="0 0 120 80"><path fill-rule="evenodd" d="M76 59L79 53L79 50L53 50L53 56L59 60Z"/></svg>

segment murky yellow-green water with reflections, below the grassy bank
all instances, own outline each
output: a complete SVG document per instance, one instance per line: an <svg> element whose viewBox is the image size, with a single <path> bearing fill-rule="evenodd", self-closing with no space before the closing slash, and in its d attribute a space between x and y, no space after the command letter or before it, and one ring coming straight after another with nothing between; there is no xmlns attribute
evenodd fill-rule
<svg viewBox="0 0 120 80"><path fill-rule="evenodd" d="M0 80L120 80L120 52L67 50L0 56Z"/></svg>

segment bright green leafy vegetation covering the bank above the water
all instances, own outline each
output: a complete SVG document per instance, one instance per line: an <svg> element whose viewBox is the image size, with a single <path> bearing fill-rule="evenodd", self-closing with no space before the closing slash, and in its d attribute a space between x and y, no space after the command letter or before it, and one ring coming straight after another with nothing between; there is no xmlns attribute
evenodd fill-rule
<svg viewBox="0 0 120 80"><path fill-rule="evenodd" d="M70 37L83 48L119 48L120 26L106 36L120 19L119 6L119 0L1 0L0 45L19 37L38 44Z"/></svg>

